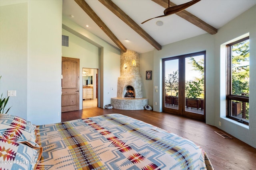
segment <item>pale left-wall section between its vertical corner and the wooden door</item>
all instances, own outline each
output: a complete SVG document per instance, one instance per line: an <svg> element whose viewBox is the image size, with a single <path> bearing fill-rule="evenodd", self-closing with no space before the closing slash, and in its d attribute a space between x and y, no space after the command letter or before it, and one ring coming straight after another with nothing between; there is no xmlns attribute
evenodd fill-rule
<svg viewBox="0 0 256 170"><path fill-rule="evenodd" d="M60 122L62 0L28 5L28 120Z"/></svg>

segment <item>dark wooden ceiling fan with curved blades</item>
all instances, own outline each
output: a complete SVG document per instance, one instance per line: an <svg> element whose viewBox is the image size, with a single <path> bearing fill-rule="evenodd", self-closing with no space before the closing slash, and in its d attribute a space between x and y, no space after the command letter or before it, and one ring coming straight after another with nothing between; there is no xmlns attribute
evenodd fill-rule
<svg viewBox="0 0 256 170"><path fill-rule="evenodd" d="M170 6L170 0L168 0L168 8L166 8L164 10L164 15L158 16L158 17L154 17L154 18L160 18L160 17L165 17L165 16L169 16L169 15L172 15L172 14L176 14L176 13L181 12L181 11L185 10L186 8L196 4L199 1L200 0L192 0L192 1L184 3L184 4L180 4L180 5L176 5L176 6ZM150 19L142 22L141 24L143 24L143 23L145 23L145 22L147 22L149 20L152 20L154 18L150 18Z"/></svg>

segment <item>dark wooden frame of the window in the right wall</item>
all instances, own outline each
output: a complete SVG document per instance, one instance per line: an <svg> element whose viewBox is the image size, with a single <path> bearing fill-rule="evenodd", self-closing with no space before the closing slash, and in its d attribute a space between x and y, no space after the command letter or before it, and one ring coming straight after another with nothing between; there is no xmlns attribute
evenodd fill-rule
<svg viewBox="0 0 256 170"><path fill-rule="evenodd" d="M249 103L249 96L232 94L232 46L246 40L249 40L249 36L226 45L226 117L249 125L249 122L242 121L241 119L230 115L230 112L232 111L232 100Z"/></svg>

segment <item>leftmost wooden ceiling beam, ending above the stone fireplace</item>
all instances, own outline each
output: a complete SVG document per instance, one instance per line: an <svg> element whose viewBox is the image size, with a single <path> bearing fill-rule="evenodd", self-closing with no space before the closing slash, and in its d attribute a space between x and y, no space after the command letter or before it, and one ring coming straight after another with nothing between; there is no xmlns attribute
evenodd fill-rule
<svg viewBox="0 0 256 170"><path fill-rule="evenodd" d="M112 33L112 31L107 27L107 25L97 16L97 14L92 10L92 8L84 0L74 0L81 8L92 18L92 20L110 37L110 39L124 52L126 52L126 47L117 39L117 37Z"/></svg>

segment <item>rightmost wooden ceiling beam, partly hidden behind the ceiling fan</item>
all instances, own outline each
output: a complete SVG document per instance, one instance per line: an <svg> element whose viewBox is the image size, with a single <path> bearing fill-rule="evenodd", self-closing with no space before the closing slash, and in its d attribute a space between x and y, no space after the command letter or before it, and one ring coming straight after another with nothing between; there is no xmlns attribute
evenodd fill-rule
<svg viewBox="0 0 256 170"><path fill-rule="evenodd" d="M164 7L165 9L168 8L168 0L152 0L152 1L156 2L156 4ZM170 6L176 6L176 4L170 1ZM208 23L204 22L203 20L194 16L193 14L191 14L186 10L176 13L176 15L189 21L190 23L196 25L197 27L203 29L204 31L212 35L217 33L216 28L214 28L213 26L209 25Z"/></svg>

